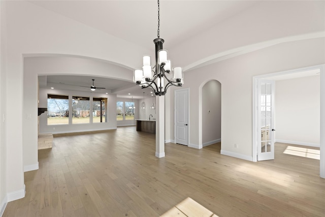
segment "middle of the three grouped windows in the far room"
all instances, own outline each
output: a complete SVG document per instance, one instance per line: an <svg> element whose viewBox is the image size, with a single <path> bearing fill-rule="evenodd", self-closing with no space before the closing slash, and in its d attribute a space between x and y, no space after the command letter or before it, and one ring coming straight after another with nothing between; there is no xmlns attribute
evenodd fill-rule
<svg viewBox="0 0 325 217"><path fill-rule="evenodd" d="M89 123L89 97L72 97L72 123Z"/></svg>

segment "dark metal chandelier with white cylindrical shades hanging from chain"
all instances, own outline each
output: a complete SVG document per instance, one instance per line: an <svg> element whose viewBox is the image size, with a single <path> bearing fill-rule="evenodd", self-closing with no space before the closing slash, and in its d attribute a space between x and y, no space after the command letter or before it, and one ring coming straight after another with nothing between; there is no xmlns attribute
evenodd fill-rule
<svg viewBox="0 0 325 217"><path fill-rule="evenodd" d="M155 65L151 67L149 55L143 56L142 69L134 71L134 82L142 88L151 87L156 96L164 96L168 87L182 86L183 71L182 67L171 69L171 60L168 59L168 51L163 49L164 39L159 38L159 0L158 0L158 30L157 38L153 40L155 44ZM173 78L169 79L166 74L173 71Z"/></svg>

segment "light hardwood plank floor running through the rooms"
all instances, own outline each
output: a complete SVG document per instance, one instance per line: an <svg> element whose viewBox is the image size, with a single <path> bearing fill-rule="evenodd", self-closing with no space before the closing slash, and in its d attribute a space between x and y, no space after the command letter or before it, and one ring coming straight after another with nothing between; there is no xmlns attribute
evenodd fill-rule
<svg viewBox="0 0 325 217"><path fill-rule="evenodd" d="M26 196L3 216L159 216L190 197L219 216L325 216L319 160L283 154L249 162L166 144L135 127L54 135L39 150L39 170L26 172Z"/></svg>

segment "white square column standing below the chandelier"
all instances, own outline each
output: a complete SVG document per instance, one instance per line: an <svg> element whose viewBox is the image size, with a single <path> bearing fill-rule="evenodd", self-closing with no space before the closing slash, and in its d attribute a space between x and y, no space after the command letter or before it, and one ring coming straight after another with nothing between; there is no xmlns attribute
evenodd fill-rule
<svg viewBox="0 0 325 217"><path fill-rule="evenodd" d="M156 154L165 157L165 96L156 96Z"/></svg>

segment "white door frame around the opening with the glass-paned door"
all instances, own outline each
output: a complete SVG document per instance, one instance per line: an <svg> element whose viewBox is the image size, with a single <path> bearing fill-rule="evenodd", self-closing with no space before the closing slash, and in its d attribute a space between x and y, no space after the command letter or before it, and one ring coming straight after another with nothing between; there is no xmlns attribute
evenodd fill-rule
<svg viewBox="0 0 325 217"><path fill-rule="evenodd" d="M307 70L314 70L319 69L320 70L320 169L319 174L320 177L325 178L325 65L316 65L311 67L305 67L305 68L299 68L294 70L287 70L282 72L276 72L276 73L270 73L265 75L259 75L253 77L253 162L257 161L257 135L256 135L256 128L257 128L257 113L256 112L256 106L257 106L257 84L259 79L266 79L273 76L278 75L285 75L285 74L292 74L297 73L301 71L307 71Z"/></svg>

